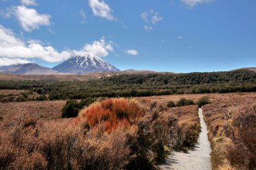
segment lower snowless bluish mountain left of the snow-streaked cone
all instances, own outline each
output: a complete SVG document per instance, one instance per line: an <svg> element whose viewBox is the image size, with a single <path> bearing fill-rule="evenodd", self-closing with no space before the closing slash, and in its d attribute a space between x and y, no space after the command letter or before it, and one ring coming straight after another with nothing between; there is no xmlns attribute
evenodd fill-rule
<svg viewBox="0 0 256 170"><path fill-rule="evenodd" d="M42 67L36 63L18 64L0 67L0 73L9 73L15 75L54 75L58 74L47 67Z"/></svg>

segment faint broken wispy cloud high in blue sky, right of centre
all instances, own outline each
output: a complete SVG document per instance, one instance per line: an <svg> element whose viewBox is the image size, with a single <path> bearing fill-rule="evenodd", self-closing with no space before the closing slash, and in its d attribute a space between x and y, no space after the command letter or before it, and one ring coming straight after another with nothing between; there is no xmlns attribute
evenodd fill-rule
<svg viewBox="0 0 256 170"><path fill-rule="evenodd" d="M140 14L140 17L142 18L143 22L146 22L146 25L143 27L146 31L153 30L153 25L156 25L163 19L153 9L150 11L143 11L143 13Z"/></svg>

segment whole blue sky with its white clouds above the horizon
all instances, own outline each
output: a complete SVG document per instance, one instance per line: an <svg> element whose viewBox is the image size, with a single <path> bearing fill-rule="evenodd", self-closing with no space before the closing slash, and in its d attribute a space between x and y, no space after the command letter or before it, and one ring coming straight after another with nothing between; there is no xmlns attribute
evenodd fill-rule
<svg viewBox="0 0 256 170"><path fill-rule="evenodd" d="M137 70L256 67L255 0L0 0L0 65L73 54Z"/></svg>

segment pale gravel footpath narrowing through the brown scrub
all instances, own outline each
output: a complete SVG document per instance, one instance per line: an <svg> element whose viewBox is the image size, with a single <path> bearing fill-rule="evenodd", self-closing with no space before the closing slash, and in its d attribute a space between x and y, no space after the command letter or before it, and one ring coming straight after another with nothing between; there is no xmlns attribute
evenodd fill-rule
<svg viewBox="0 0 256 170"><path fill-rule="evenodd" d="M201 109L199 109L198 114L201 124L201 132L199 134L198 144L196 144L193 151L189 151L189 153L173 152L168 157L166 164L160 166L160 169L212 169L212 163L210 160L210 142L207 138L207 126L203 120L203 113Z"/></svg>

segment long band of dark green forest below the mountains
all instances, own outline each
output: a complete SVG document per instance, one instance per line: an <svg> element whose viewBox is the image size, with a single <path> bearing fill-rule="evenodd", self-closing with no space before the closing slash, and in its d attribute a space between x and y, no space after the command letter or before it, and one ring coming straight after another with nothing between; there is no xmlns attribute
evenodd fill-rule
<svg viewBox="0 0 256 170"><path fill-rule="evenodd" d="M212 73L116 75L90 81L0 81L0 89L26 89L31 93L40 94L42 97L39 99L43 100L253 92L256 91L256 73L237 70ZM28 94L22 97L26 100L26 96Z"/></svg>

